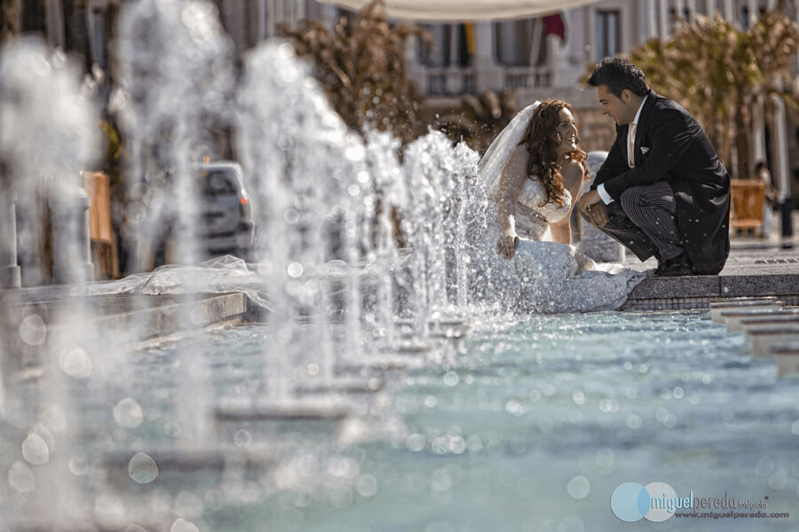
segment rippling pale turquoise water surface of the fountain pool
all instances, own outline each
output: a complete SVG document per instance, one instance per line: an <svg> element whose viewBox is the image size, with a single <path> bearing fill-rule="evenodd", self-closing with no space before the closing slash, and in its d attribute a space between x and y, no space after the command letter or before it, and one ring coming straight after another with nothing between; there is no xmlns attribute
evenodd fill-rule
<svg viewBox="0 0 799 532"><path fill-rule="evenodd" d="M799 497L799 387L707 312L477 324L464 353L381 374L382 390L348 396L357 415L341 424L223 420L220 462L162 458L180 431L178 350L204 346L194 352L207 358L217 399L249 397L264 379L265 330L147 349L107 388L80 394L83 455L70 468L83 489L103 486L100 500L140 500L173 527L215 531L611 530L621 521L609 497L627 481L665 482L681 497L769 497L774 512ZM296 362L312 378L313 362ZM32 481L42 440L25 440L33 459L9 481ZM114 454L125 457L122 471L106 475ZM661 526L683 529L677 520ZM730 526L690 527L699 525Z"/></svg>

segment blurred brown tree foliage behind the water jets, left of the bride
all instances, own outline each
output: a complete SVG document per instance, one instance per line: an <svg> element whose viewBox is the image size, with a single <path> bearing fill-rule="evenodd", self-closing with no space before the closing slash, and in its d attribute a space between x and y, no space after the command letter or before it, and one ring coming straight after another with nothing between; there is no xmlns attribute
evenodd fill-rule
<svg viewBox="0 0 799 532"><path fill-rule="evenodd" d="M294 43L297 55L314 60L328 101L352 129L368 124L405 144L423 132L423 97L408 76L405 54L408 38L427 34L389 24L383 0L341 17L332 32L315 20L301 20L297 28L281 25L278 32Z"/></svg>

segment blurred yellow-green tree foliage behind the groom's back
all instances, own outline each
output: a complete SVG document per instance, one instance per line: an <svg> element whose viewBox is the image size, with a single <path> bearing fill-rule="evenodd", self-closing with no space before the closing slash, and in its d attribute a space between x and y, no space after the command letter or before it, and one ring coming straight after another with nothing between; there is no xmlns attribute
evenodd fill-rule
<svg viewBox="0 0 799 532"><path fill-rule="evenodd" d="M779 2L747 31L724 20L698 16L683 21L671 40L652 40L630 52L654 90L675 99L700 121L734 176L748 176L751 109L758 98L777 92L789 104L791 59L799 27ZM733 166L734 163L734 166Z"/></svg>

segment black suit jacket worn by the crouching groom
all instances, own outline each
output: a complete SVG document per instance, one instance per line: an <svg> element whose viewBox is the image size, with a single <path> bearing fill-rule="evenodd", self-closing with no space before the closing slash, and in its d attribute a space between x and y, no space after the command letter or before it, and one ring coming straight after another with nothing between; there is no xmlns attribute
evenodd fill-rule
<svg viewBox="0 0 799 532"><path fill-rule="evenodd" d="M592 188L604 183L618 201L630 187L667 181L693 269L718 273L730 253L730 176L705 132L683 107L650 90L637 123L636 166L629 168L628 128L616 126L616 140Z"/></svg>

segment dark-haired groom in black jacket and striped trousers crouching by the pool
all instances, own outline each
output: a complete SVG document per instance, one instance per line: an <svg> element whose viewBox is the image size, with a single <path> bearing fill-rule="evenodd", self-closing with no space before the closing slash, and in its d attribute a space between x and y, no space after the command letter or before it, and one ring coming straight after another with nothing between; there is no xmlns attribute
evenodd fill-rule
<svg viewBox="0 0 799 532"><path fill-rule="evenodd" d="M605 58L588 79L616 121L616 140L577 208L655 275L715 275L730 252L730 177L700 125L646 85L628 59Z"/></svg>

